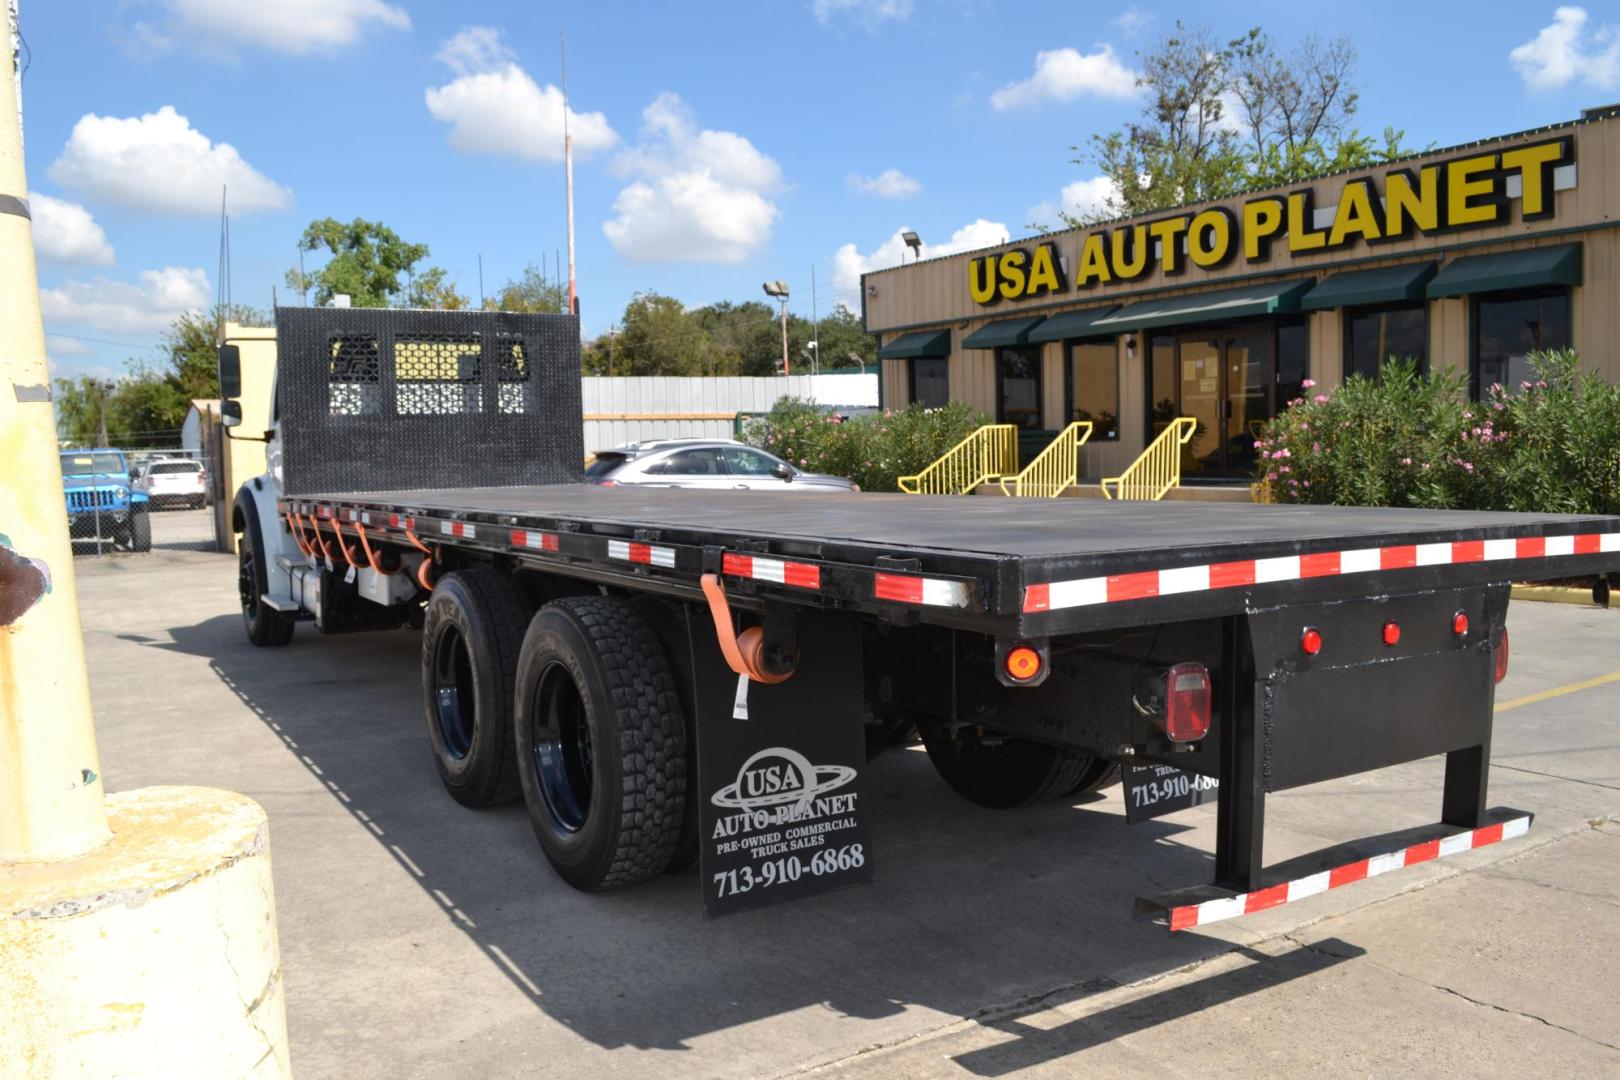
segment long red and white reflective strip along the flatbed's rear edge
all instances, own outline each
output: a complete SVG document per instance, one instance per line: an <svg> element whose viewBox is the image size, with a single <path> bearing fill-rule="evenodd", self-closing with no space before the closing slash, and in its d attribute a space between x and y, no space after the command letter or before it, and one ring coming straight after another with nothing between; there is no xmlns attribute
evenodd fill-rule
<svg viewBox="0 0 1620 1080"><path fill-rule="evenodd" d="M1024 610L1043 612L1089 604L1115 604L1150 596L1204 593L1268 581L1301 581L1346 573L1442 567L1503 559L1554 559L1560 555L1596 555L1620 552L1620 533L1578 533L1575 536L1521 536L1518 539L1448 541L1440 544L1395 544L1392 547L1359 547L1327 551L1311 555L1278 555L1275 559L1241 559L1202 567L1142 570L1098 578L1074 578L1024 588Z"/></svg>

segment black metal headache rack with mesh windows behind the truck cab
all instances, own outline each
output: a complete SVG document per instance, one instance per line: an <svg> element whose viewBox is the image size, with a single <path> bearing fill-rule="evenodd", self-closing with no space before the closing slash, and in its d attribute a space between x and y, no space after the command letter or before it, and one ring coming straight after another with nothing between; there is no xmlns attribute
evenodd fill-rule
<svg viewBox="0 0 1620 1080"><path fill-rule="evenodd" d="M279 308L287 494L582 479L573 316Z"/></svg>

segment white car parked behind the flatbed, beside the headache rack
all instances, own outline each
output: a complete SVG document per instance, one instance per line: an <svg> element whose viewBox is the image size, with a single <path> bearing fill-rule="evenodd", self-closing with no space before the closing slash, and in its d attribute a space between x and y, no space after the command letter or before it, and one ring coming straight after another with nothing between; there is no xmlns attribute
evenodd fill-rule
<svg viewBox="0 0 1620 1080"><path fill-rule="evenodd" d="M598 450L585 466L585 478L608 486L700 491L860 491L855 481L807 473L774 453L729 439L661 439Z"/></svg>

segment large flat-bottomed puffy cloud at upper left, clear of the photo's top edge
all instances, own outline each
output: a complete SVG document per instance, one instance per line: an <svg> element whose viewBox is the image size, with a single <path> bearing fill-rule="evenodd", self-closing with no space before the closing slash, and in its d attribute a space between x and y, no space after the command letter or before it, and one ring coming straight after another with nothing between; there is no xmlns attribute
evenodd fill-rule
<svg viewBox="0 0 1620 1080"><path fill-rule="evenodd" d="M47 173L94 199L159 214L219 214L222 185L232 212L279 210L293 198L173 105L130 118L86 113Z"/></svg>

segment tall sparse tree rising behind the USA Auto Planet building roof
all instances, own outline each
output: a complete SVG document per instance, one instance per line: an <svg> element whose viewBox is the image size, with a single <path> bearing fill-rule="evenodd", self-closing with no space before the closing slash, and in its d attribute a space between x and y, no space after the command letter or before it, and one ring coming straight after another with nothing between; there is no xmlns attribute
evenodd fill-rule
<svg viewBox="0 0 1620 1080"><path fill-rule="evenodd" d="M1348 37L1304 37L1281 50L1254 28L1220 45L1207 26L1176 23L1137 55L1147 91L1137 121L1094 134L1077 165L1095 165L1115 194L1066 225L1149 214L1254 188L1364 168L1409 151L1405 133L1354 130L1359 104Z"/></svg>

